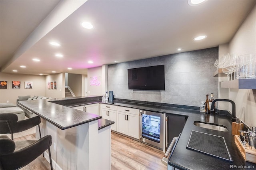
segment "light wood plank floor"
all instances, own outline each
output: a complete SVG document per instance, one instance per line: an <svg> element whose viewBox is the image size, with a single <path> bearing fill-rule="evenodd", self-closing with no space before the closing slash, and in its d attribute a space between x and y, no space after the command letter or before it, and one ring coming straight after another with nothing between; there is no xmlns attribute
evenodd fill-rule
<svg viewBox="0 0 256 170"><path fill-rule="evenodd" d="M112 170L166 170L161 159L161 150L132 140L114 132L111 133L111 169ZM35 134L14 139L35 139ZM21 170L49 170L50 164L41 155Z"/></svg>

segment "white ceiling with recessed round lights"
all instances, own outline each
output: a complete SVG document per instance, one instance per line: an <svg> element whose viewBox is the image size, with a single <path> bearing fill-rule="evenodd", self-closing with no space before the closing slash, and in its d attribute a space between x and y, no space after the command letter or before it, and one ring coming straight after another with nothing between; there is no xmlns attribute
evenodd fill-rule
<svg viewBox="0 0 256 170"><path fill-rule="evenodd" d="M40 23L47 25L55 16L63 16L58 12L64 3L0 0L1 72L14 73L15 69L16 73L35 75L52 71L87 74L87 68L113 64L115 60L216 47L231 40L256 1L208 0L200 6L189 6L187 0L88 0L46 32ZM73 6L69 4L69 8ZM94 28L83 28L83 21L91 22ZM37 34L31 34L35 29ZM39 36L38 30L46 34ZM200 35L207 38L195 42L193 39ZM32 39L34 42L28 43ZM52 40L61 46L49 45ZM56 53L64 57L55 57ZM32 61L35 57L41 61Z"/></svg>

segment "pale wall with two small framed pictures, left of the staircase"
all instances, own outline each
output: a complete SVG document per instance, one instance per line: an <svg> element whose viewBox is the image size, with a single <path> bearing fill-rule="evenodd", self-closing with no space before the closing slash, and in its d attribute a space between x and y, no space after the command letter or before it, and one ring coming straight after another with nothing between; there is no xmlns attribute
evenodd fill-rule
<svg viewBox="0 0 256 170"><path fill-rule="evenodd" d="M57 81L57 89L48 89L49 81ZM57 73L45 76L45 97L62 98L65 97L65 73Z"/></svg>

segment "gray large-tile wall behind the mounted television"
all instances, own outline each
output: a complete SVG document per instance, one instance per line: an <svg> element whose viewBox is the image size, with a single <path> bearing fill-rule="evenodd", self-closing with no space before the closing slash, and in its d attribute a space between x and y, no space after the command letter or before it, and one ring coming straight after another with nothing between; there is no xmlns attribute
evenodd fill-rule
<svg viewBox="0 0 256 170"><path fill-rule="evenodd" d="M218 47L108 65L108 90L119 99L199 106L206 94L218 97L218 77L212 77L216 59ZM165 91L128 89L127 69L163 64Z"/></svg>

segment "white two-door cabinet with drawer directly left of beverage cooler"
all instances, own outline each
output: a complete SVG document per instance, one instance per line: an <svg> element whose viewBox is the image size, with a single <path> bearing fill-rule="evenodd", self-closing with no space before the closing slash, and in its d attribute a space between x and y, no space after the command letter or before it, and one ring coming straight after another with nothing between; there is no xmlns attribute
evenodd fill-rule
<svg viewBox="0 0 256 170"><path fill-rule="evenodd" d="M117 131L139 139L139 109L117 107Z"/></svg>

